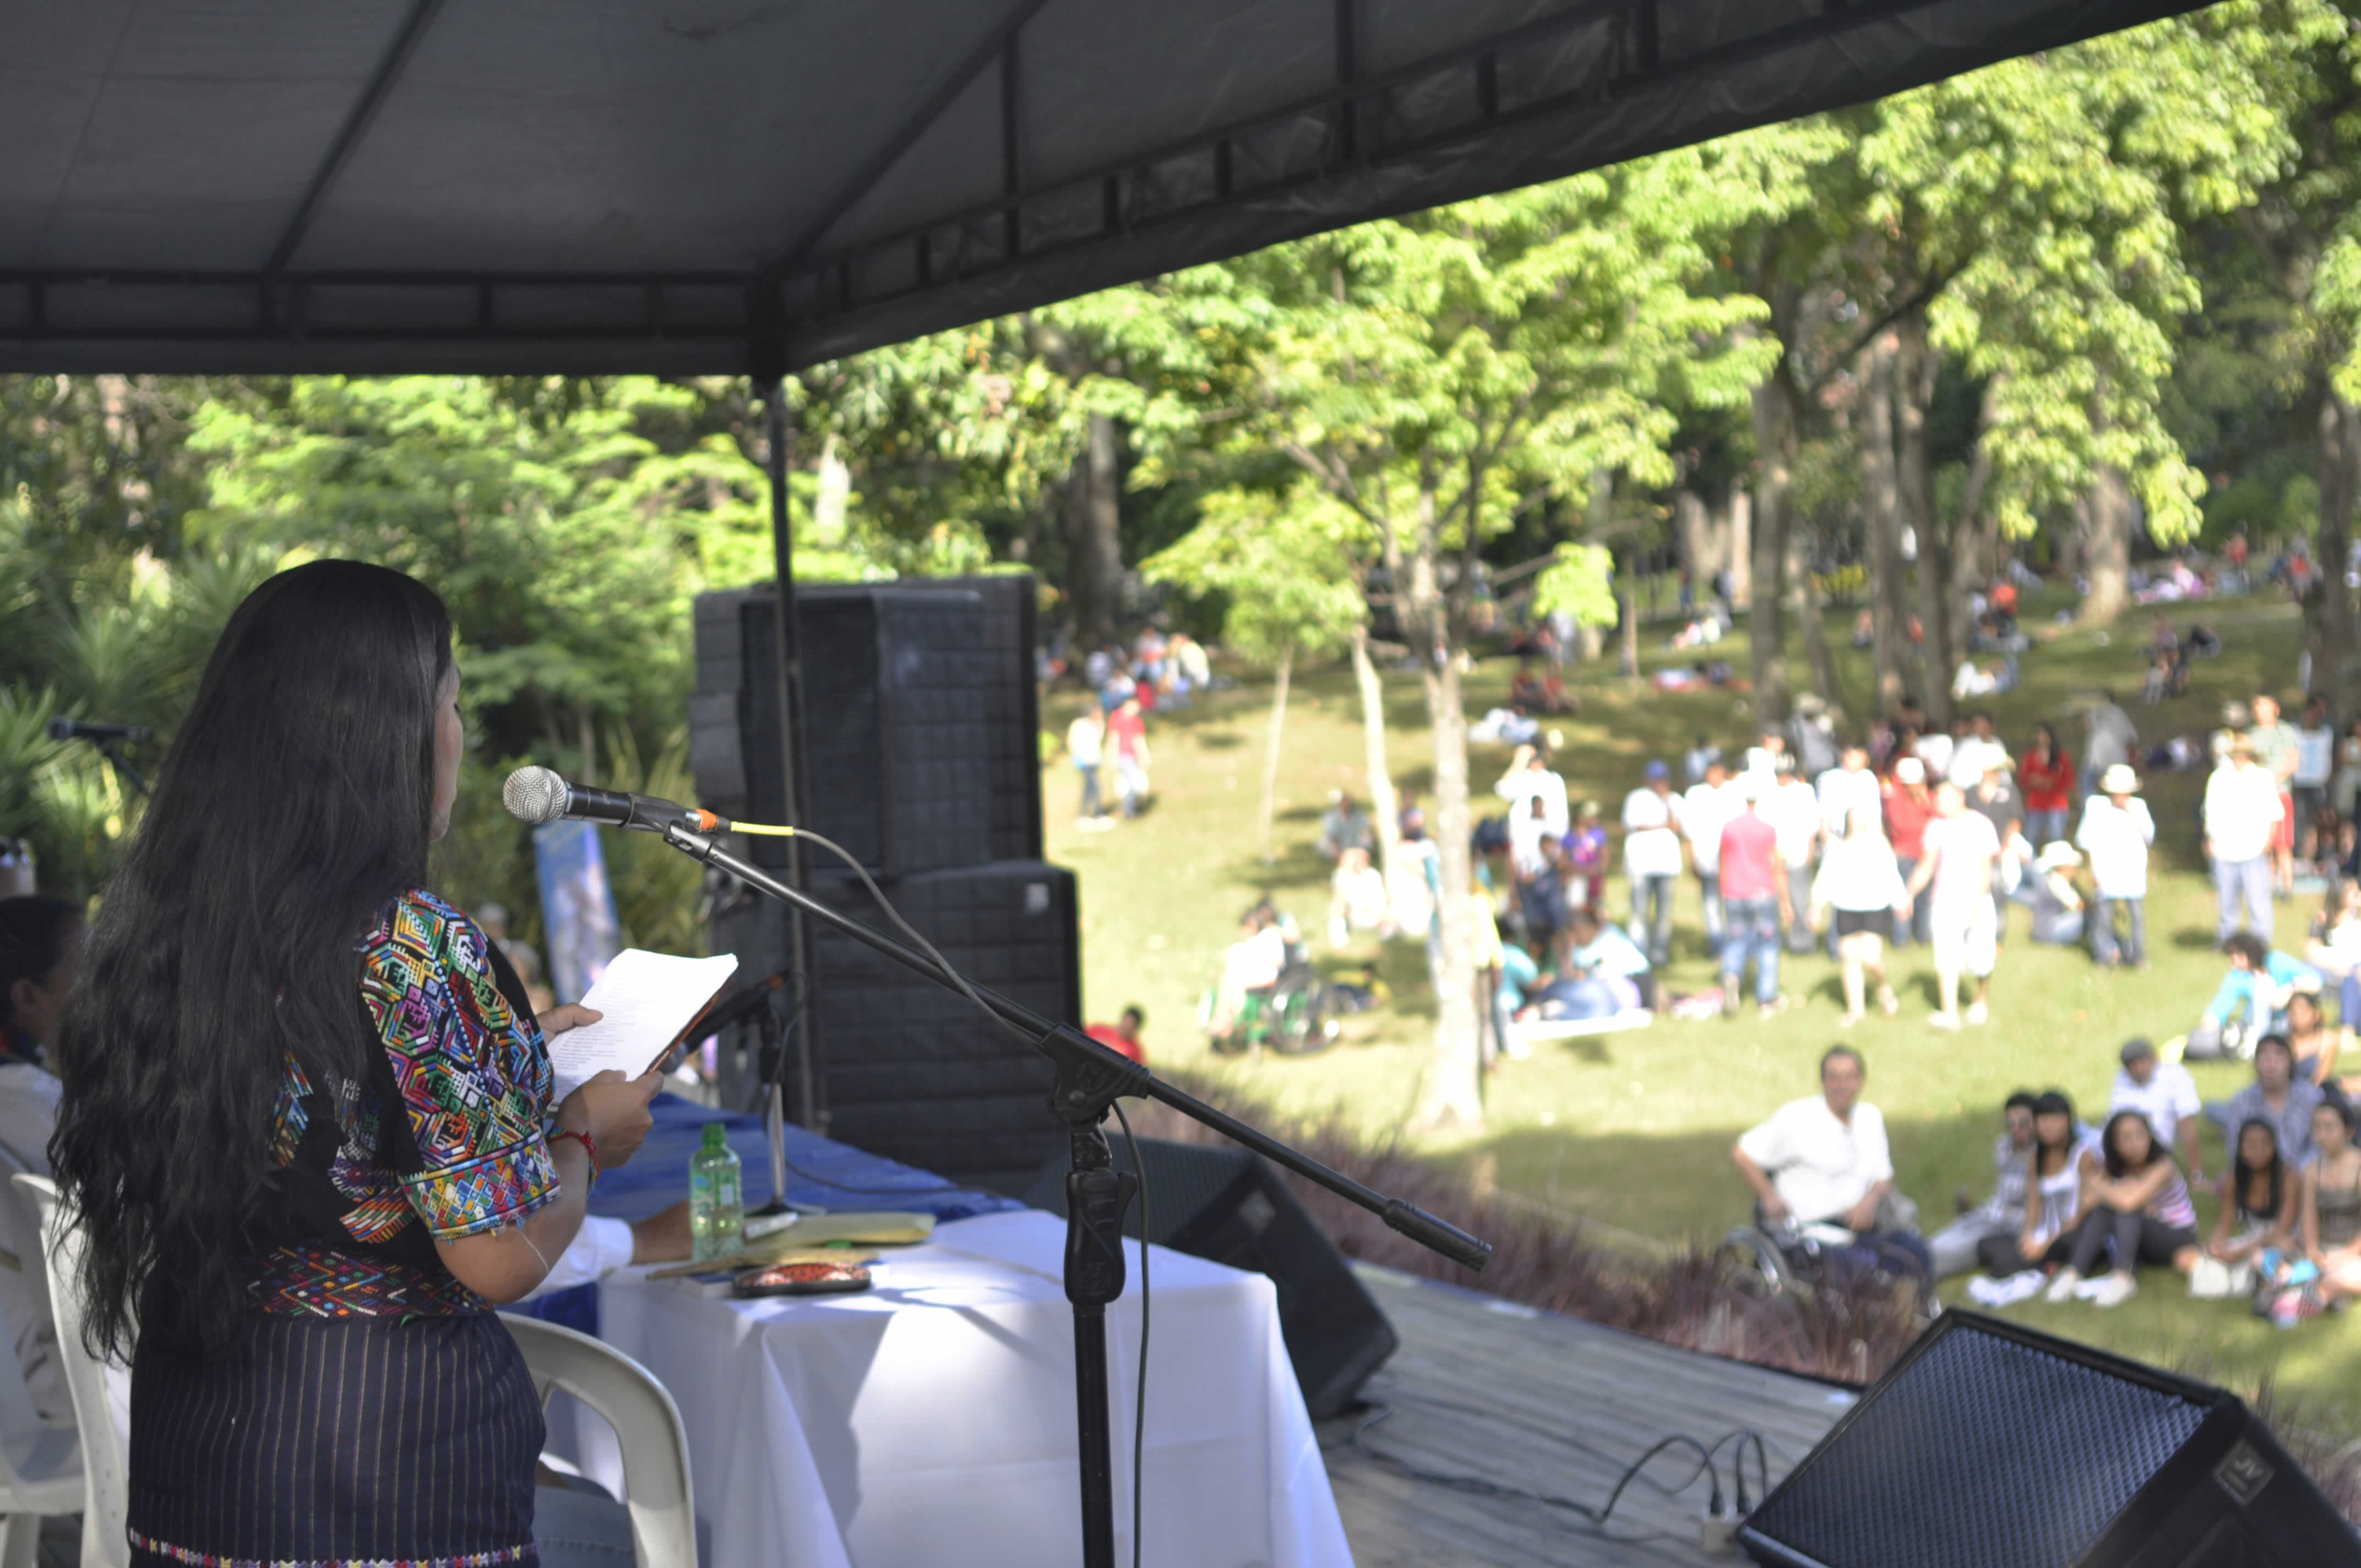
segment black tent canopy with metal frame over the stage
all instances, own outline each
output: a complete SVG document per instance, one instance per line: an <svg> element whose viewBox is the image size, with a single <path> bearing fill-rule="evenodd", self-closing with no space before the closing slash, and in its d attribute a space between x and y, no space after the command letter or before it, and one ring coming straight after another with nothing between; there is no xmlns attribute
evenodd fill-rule
<svg viewBox="0 0 2361 1568"><path fill-rule="evenodd" d="M2186 0L0 0L0 371L756 373Z"/></svg>

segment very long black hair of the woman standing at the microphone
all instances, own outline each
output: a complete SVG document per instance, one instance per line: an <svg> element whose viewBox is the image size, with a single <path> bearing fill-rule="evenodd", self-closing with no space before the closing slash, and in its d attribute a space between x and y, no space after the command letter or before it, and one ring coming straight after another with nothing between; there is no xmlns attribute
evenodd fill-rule
<svg viewBox="0 0 2361 1568"><path fill-rule="evenodd" d="M288 1060L359 1079L357 942L425 881L449 668L442 600L345 560L269 579L212 647L57 1041L92 1351L217 1351L248 1311Z"/></svg>

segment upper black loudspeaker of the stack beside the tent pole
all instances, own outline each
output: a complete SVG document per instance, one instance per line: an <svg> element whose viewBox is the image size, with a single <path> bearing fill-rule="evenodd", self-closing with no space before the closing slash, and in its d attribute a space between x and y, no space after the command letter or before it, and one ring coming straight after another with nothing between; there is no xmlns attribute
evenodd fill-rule
<svg viewBox="0 0 2361 1568"><path fill-rule="evenodd" d="M696 600L699 803L779 822L777 595ZM805 822L878 874L1041 857L1029 574L796 590ZM777 838L758 864L786 864ZM826 860L815 860L824 869Z"/></svg>

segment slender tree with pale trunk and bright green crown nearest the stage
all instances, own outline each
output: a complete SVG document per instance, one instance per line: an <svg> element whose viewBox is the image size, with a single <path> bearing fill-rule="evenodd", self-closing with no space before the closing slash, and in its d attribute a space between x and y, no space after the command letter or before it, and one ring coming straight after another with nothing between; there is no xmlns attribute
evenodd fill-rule
<svg viewBox="0 0 2361 1568"><path fill-rule="evenodd" d="M1247 371L1209 444L1280 453L1376 536L1435 756L1443 963L1419 1119L1483 1124L1459 694L1483 545L1520 496L1674 477L1674 409L1735 404L1766 347L1709 295L1759 196L1695 151L1374 222L1152 288Z"/></svg>

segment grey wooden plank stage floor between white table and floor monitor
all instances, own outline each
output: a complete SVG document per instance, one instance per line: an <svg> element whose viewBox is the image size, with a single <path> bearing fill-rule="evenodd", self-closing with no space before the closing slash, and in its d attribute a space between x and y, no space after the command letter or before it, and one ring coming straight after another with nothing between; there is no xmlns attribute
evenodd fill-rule
<svg viewBox="0 0 2361 1568"><path fill-rule="evenodd" d="M1426 1471L1483 1476L1596 1509L1622 1469L1657 1438L1686 1431L1712 1443L1750 1426L1764 1436L1778 1483L1853 1403L1846 1389L1674 1351L1391 1268L1358 1263L1355 1273L1402 1337L1402 1348L1362 1389L1365 1400L1393 1405L1365 1440ZM1379 1464L1350 1445L1360 1419L1320 1426L1358 1568L1726 1568L1745 1561L1702 1549L1702 1478L1669 1497L1634 1481L1605 1530L1596 1530L1570 1509L1454 1490ZM1728 1455L1731 1448L1716 1455L1724 1485ZM1667 1452L1646 1474L1672 1485L1693 1466ZM1747 1474L1754 1474L1752 1459Z"/></svg>

